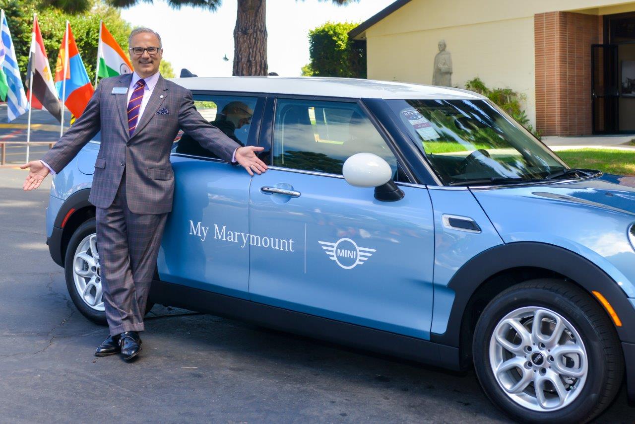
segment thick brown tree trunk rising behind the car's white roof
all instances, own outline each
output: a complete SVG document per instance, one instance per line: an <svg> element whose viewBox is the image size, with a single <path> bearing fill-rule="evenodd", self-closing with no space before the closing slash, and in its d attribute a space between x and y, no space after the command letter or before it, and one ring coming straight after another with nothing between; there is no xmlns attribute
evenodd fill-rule
<svg viewBox="0 0 635 424"><path fill-rule="evenodd" d="M267 0L238 0L232 74L267 75Z"/></svg>

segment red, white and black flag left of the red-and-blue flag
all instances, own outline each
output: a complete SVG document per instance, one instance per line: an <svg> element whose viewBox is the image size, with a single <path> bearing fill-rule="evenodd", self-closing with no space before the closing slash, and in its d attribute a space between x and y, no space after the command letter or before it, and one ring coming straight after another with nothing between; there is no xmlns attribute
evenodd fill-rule
<svg viewBox="0 0 635 424"><path fill-rule="evenodd" d="M33 78L33 86L30 86L31 78ZM44 50L44 41L42 33L39 31L37 17L33 17L33 32L31 33L31 50L29 52L29 68L27 69L27 90L32 92L32 104L34 109L46 109L58 121L62 122L62 108L60 107L60 99L57 96L57 90L53 85L53 76L48 65L48 57ZM30 94L27 92L27 99Z"/></svg>

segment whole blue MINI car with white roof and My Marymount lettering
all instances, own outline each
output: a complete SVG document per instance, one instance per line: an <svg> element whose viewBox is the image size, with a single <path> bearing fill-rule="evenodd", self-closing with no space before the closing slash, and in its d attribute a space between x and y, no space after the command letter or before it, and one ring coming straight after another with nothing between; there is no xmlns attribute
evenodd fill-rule
<svg viewBox="0 0 635 424"><path fill-rule="evenodd" d="M184 78L197 110L265 148L250 177L187 135L152 303L447 369L516 420L635 400L635 184L570 168L476 93L336 78ZM55 176L48 245L105 322L96 137Z"/></svg>

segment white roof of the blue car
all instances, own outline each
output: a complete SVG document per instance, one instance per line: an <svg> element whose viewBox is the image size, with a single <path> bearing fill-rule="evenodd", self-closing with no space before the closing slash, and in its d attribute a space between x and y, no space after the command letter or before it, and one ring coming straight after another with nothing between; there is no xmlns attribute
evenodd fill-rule
<svg viewBox="0 0 635 424"><path fill-rule="evenodd" d="M230 76L171 78L188 90L212 90L243 93L272 93L348 97L360 99L486 99L482 95L458 88L434 85L375 81L373 79L278 77L278 76Z"/></svg>

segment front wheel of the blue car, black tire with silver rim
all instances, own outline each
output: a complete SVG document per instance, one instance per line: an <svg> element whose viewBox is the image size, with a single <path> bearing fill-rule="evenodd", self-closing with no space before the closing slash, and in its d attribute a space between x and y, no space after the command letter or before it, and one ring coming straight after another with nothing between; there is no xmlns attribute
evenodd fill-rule
<svg viewBox="0 0 635 424"><path fill-rule="evenodd" d="M556 279L514 285L492 299L476 324L472 354L486 395L523 422L590 421L615 399L624 374L606 311Z"/></svg>

